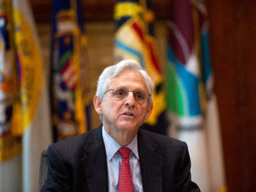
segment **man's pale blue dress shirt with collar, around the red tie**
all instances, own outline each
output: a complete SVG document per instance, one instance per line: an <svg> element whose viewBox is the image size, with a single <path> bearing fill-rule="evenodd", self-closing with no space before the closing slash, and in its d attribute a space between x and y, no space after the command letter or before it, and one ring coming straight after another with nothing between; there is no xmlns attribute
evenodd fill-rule
<svg viewBox="0 0 256 192"><path fill-rule="evenodd" d="M118 149L124 146L119 145L113 138L111 138L111 136L109 136L109 134L105 131L104 126L102 126L102 136L107 154L109 189L108 191L118 192L119 172L120 166L122 164L122 157L118 153ZM131 149L129 161L132 173L134 192L143 192L137 135L133 138L131 143L129 143L129 145L125 147L129 147Z"/></svg>

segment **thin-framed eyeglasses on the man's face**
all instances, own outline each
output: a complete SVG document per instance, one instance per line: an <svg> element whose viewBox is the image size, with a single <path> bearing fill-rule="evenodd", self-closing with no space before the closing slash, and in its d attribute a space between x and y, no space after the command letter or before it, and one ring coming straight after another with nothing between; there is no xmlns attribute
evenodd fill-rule
<svg viewBox="0 0 256 192"><path fill-rule="evenodd" d="M117 100L122 100L125 99L127 97L127 95L129 94L129 92L133 92L133 96L135 98L135 100L139 103L144 103L147 99L149 100L151 95L146 92L144 92L143 90L134 90L134 91L129 91L127 88L114 88L114 89L109 89L108 91L106 91L103 95L105 95L106 93L112 91L113 92L113 96L115 97L115 99ZM148 96L148 97L147 97Z"/></svg>

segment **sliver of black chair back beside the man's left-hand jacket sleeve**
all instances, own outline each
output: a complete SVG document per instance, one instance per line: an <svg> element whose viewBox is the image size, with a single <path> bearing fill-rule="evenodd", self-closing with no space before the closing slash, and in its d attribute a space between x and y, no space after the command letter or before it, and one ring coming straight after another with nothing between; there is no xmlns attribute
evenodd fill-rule
<svg viewBox="0 0 256 192"><path fill-rule="evenodd" d="M38 185L38 191L42 189L42 186L45 184L45 180L47 179L47 165L46 165L46 157L47 157L47 150L44 150L41 154L40 159L40 171L39 171L39 185Z"/></svg>

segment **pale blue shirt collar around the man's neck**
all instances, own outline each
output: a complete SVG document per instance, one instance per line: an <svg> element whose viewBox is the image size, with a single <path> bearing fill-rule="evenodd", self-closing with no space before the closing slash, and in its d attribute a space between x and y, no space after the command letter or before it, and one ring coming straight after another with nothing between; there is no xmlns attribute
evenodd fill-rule
<svg viewBox="0 0 256 192"><path fill-rule="evenodd" d="M117 143L113 138L111 138L108 132L105 131L104 126L102 126L102 137L106 148L108 161L111 161L113 156L116 154L117 150L122 146L119 145L119 143ZM132 139L132 141L125 147L129 147L134 156L136 156L136 158L139 159L137 134Z"/></svg>

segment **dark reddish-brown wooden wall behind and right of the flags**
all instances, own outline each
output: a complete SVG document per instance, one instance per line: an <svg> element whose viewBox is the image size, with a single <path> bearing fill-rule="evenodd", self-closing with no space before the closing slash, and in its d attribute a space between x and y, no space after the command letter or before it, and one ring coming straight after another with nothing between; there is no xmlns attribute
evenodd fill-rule
<svg viewBox="0 0 256 192"><path fill-rule="evenodd" d="M30 0L36 22L50 22L51 0ZM83 1L86 20L111 20L115 0ZM157 19L170 1L152 1ZM229 192L256 190L256 1L206 0L215 90Z"/></svg>

